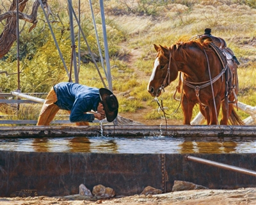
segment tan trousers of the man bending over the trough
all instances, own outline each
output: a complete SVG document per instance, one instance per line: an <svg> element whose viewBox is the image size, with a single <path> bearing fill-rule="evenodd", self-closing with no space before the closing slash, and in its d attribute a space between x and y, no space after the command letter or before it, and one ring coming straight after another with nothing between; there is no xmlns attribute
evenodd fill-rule
<svg viewBox="0 0 256 205"><path fill-rule="evenodd" d="M47 97L45 98L44 105L41 109L38 121L36 125L50 125L51 121L56 116L57 112L60 110L60 108L54 104L56 102L57 96L53 89L49 91ZM70 113L70 111L68 111ZM90 125L88 122L78 122L76 123L77 126L88 126Z"/></svg>

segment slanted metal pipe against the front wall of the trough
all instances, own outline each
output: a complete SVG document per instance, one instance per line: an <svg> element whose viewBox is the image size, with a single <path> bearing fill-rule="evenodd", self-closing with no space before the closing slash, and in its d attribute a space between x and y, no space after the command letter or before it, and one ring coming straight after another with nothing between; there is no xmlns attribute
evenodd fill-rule
<svg viewBox="0 0 256 205"><path fill-rule="evenodd" d="M230 170L230 171L240 172L242 174L248 174L248 175L251 175L251 176L256 176L256 172L252 171L252 170L249 170L249 169L243 169L243 168L240 168L240 167L227 165L225 163L214 162L214 161L211 161L211 160L205 160L205 159L198 158L198 157L195 157L195 156L186 155L185 160L189 160L189 161L192 161L192 162L198 162L198 163L204 163L206 165L212 165L214 167L219 167L219 168L227 169L227 170Z"/></svg>

